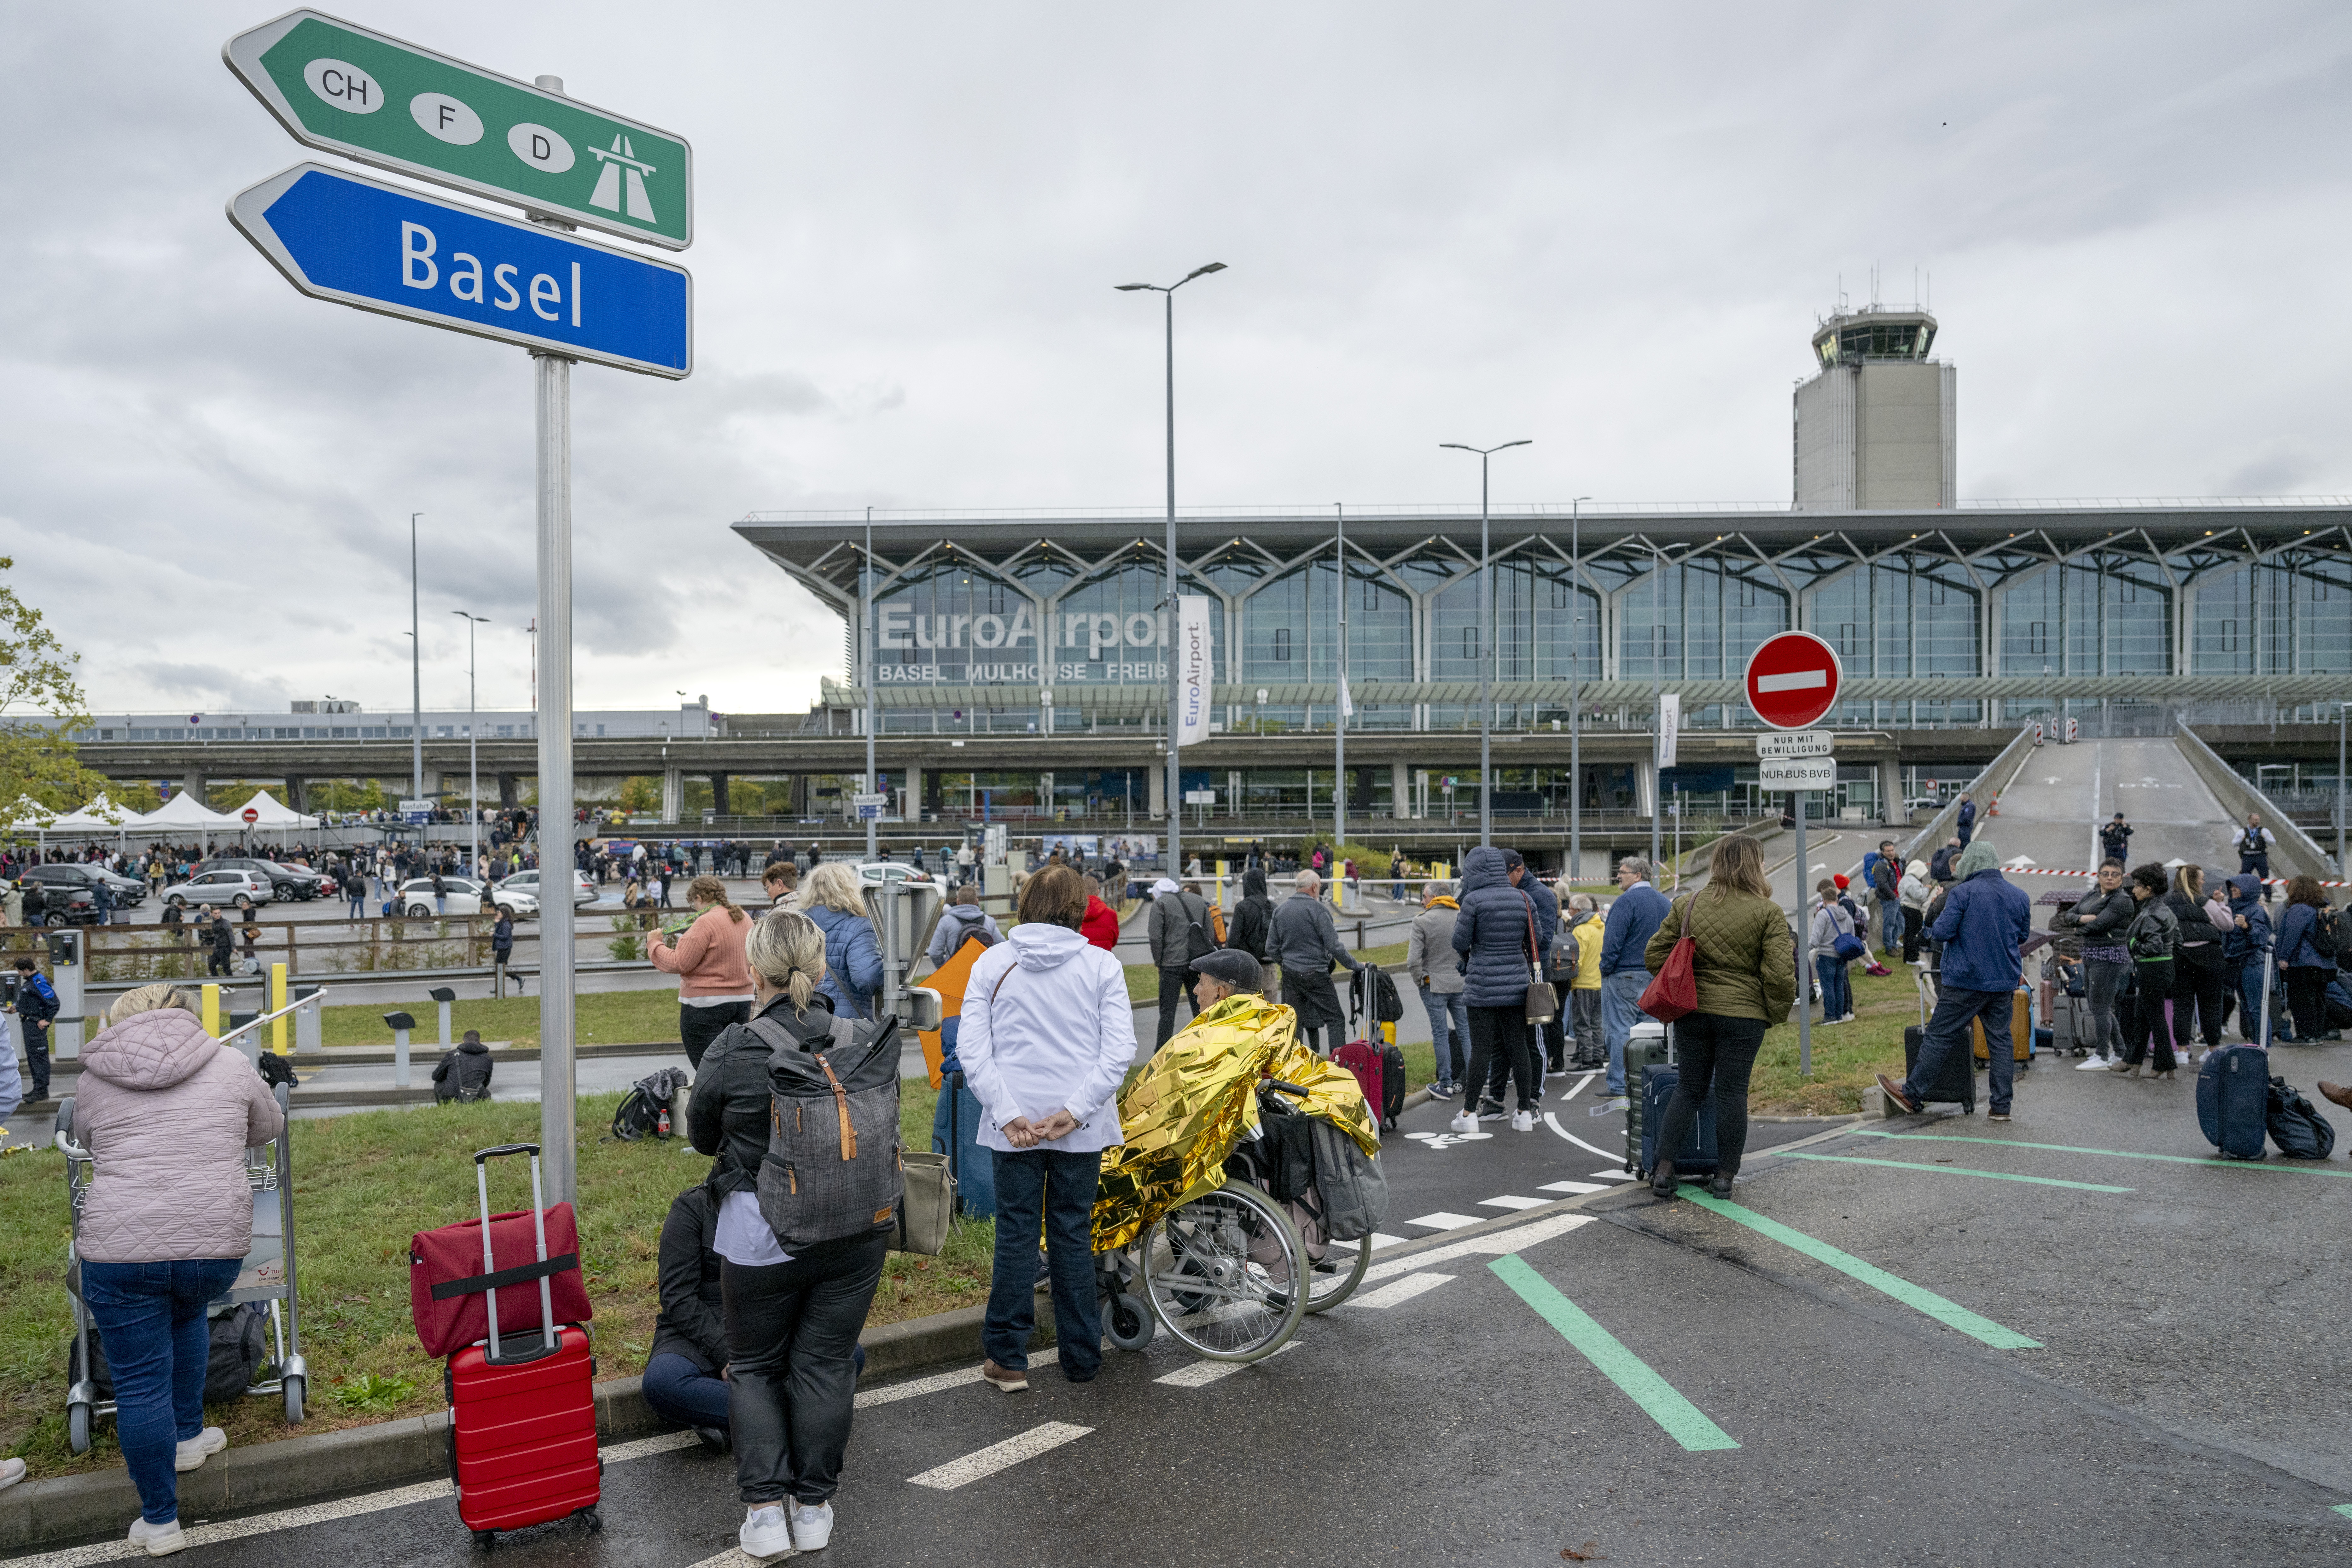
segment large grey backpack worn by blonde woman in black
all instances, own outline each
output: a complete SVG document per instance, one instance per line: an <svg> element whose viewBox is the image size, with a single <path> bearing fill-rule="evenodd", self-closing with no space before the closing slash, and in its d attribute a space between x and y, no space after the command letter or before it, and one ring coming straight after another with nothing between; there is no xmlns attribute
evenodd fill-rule
<svg viewBox="0 0 2352 1568"><path fill-rule="evenodd" d="M898 1020L880 1027L833 1018L802 1034L762 1013L746 1025L769 1044L767 1157L760 1215L788 1253L842 1237L896 1229Z"/></svg>

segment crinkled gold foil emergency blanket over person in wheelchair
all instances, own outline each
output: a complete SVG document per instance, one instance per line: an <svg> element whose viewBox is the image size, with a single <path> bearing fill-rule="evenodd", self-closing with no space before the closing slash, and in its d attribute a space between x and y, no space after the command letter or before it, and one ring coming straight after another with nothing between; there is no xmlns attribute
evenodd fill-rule
<svg viewBox="0 0 2352 1568"><path fill-rule="evenodd" d="M1162 1046L1120 1095L1124 1147L1103 1152L1094 1251L1131 1246L1167 1211L1225 1185L1225 1157L1258 1126L1258 1079L1308 1091L1310 1117L1381 1152L1381 1128L1345 1067L1298 1044L1298 1013L1265 997L1225 997Z"/></svg>

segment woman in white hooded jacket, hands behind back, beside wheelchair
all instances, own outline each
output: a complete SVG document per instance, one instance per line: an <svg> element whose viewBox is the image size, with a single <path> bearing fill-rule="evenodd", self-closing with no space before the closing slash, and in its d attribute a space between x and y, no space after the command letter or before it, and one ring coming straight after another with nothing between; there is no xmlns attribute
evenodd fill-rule
<svg viewBox="0 0 2352 1568"><path fill-rule="evenodd" d="M1047 865L1021 886L1009 938L971 966L955 1056L981 1103L995 1152L997 1267L981 1326L981 1378L1028 1387L1037 1326L1037 1225L1054 1274L1061 1375L1089 1382L1103 1363L1094 1300L1094 1185L1120 1140L1120 1079L1136 1060L1127 971L1080 936L1087 884Z"/></svg>

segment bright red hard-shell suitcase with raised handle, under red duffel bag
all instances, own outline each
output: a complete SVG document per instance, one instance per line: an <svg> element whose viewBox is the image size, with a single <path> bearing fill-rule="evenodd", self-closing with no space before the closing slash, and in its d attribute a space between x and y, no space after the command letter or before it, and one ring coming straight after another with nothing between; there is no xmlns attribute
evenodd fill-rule
<svg viewBox="0 0 2352 1568"><path fill-rule="evenodd" d="M482 1192L485 1279L496 1274L489 1258L489 1161L501 1154L532 1157L539 1262L548 1262L539 1145L482 1150L473 1157L473 1168ZM576 1269L579 1262L569 1267ZM508 1269L513 1272L517 1269ZM456 1479L459 1519L485 1547L499 1530L569 1514L579 1514L590 1530L602 1530L595 1507L604 1465L595 1455L595 1356L588 1352L588 1331L576 1324L553 1326L548 1274L539 1276L539 1326L527 1335L501 1342L499 1291L482 1291L482 1300L489 1305L489 1340L449 1356L442 1382L449 1394L449 1469Z"/></svg>

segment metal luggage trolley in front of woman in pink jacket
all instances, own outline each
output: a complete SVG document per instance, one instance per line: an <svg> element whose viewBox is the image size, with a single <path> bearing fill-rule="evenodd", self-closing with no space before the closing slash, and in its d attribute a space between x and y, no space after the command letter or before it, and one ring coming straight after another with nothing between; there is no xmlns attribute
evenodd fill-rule
<svg viewBox="0 0 2352 1568"><path fill-rule="evenodd" d="M287 1112L287 1086L278 1084L278 1110ZM287 1133L294 1121L287 1119ZM254 1192L254 1229L245 1265L228 1293L207 1309L242 1307L245 1302L268 1302L270 1345L275 1356L263 1363L261 1375L245 1389L247 1399L280 1396L287 1425L299 1427L303 1399L310 1385L310 1368L301 1354L301 1309L294 1298L294 1157L292 1138L280 1133L268 1145L245 1152L245 1180ZM89 1199L89 1180L96 1161L89 1150L73 1140L73 1098L56 1107L56 1147L66 1154L66 1208L73 1215L73 1241L66 1248L66 1295L73 1300L73 1387L66 1389L66 1443L73 1453L89 1453L92 1422L115 1413L113 1399L99 1399L96 1380L89 1375L89 1307L82 1302L82 1204Z"/></svg>

